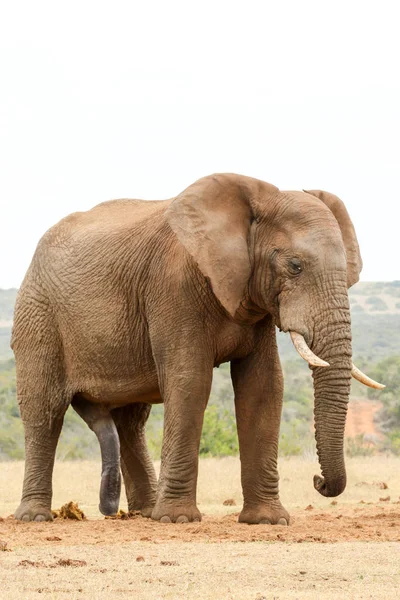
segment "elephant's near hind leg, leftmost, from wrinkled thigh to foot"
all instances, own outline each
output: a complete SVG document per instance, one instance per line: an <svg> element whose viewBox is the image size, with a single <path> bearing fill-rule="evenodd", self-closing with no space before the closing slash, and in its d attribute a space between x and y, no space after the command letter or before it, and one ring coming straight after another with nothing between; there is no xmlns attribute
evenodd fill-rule
<svg viewBox="0 0 400 600"><path fill-rule="evenodd" d="M49 303L35 276L20 290L12 347L17 398L25 431L25 476L15 518L51 521L54 459L65 412L71 402L63 345Z"/></svg>

